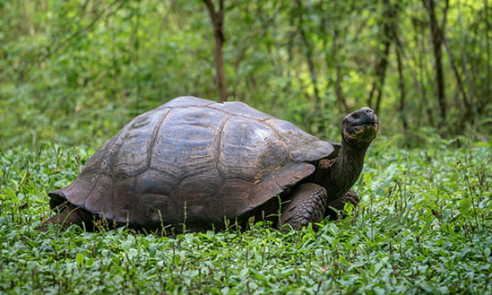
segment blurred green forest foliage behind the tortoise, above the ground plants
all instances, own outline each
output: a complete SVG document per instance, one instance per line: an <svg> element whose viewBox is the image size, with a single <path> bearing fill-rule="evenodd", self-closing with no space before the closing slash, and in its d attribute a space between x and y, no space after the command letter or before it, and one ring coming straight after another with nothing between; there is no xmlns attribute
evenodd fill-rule
<svg viewBox="0 0 492 295"><path fill-rule="evenodd" d="M347 111L375 108L377 86L381 133L402 134L399 143L450 134L489 140L488 1L436 3L445 24L444 118L426 1L227 1L229 100L337 140ZM213 31L201 1L4 0L0 15L1 149L44 140L95 148L167 100L216 98Z"/></svg>

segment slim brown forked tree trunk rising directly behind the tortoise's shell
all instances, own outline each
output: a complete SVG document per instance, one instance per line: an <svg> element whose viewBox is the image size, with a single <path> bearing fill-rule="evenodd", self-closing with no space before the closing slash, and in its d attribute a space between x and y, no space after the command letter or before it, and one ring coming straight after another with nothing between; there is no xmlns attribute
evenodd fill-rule
<svg viewBox="0 0 492 295"><path fill-rule="evenodd" d="M219 93L220 101L228 100L228 92L226 85L226 75L224 74L224 59L222 55L222 48L224 45L224 0L219 1L219 11L216 11L211 0L203 0L203 3L207 6L207 9L211 16L211 23L213 24L213 39L215 39L215 46L213 48L213 57L215 62L215 82L217 84L217 92Z"/></svg>

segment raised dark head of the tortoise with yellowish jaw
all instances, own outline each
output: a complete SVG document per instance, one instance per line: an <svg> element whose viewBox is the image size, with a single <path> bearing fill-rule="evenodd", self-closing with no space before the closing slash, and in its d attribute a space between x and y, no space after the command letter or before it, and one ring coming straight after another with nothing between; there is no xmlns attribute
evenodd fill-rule
<svg viewBox="0 0 492 295"><path fill-rule="evenodd" d="M367 147L377 136L377 130L379 121L371 108L360 108L341 122L343 140L356 147Z"/></svg>

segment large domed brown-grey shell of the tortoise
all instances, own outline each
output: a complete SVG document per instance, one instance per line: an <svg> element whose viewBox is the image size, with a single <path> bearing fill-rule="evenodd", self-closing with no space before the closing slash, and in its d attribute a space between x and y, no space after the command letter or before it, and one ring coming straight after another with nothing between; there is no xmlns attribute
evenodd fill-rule
<svg viewBox="0 0 492 295"><path fill-rule="evenodd" d="M245 103L180 97L135 117L49 195L53 206L66 199L108 221L223 221L295 185L332 152Z"/></svg>

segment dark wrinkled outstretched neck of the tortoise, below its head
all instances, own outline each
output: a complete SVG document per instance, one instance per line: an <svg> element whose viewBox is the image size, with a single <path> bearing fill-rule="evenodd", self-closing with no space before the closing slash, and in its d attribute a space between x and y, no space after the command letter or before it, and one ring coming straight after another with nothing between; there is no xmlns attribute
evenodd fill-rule
<svg viewBox="0 0 492 295"><path fill-rule="evenodd" d="M338 156L333 160L320 160L315 163L316 170L312 181L326 188L328 200L336 200L347 193L364 167L367 147L353 146L343 141Z"/></svg>

